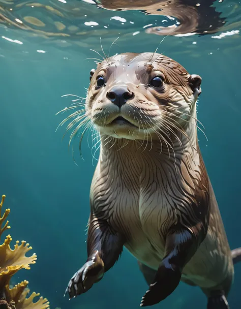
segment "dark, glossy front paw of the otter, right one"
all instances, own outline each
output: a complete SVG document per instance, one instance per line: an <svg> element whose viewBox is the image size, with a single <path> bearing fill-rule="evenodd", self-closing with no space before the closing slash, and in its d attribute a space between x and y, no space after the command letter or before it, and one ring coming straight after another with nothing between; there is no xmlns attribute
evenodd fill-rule
<svg viewBox="0 0 241 309"><path fill-rule="evenodd" d="M178 286L181 275L182 272L178 267L163 261L158 268L154 283L142 297L140 306L152 306L165 299Z"/></svg>

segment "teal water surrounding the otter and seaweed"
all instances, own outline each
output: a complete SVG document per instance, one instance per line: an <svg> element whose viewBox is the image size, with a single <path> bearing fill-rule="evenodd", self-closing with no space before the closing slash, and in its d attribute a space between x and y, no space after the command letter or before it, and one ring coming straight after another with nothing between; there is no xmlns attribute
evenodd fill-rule
<svg viewBox="0 0 241 309"><path fill-rule="evenodd" d="M121 12L112 11L111 2L103 3L109 10L98 8L94 1L0 0L0 195L6 194L5 206L11 208L13 242L26 240L38 256L31 270L13 276L13 284L27 279L31 291L47 297L51 308L138 308L147 290L135 259L124 250L114 268L88 293L71 301L63 297L71 276L86 259L89 187L97 163L93 154L98 158L99 149L86 136L83 161L77 138L74 162L72 148L68 150L69 135L62 141L66 126L55 132L65 114L55 114L75 98L61 97L85 97L89 71L96 67L93 59L86 58L99 57L90 49L101 52L100 37L107 53L117 37L111 54L154 51L163 36L162 28L153 27L176 23L170 13L169 17L160 15L163 12L156 7L156 15L152 8L146 15L127 4L128 11ZM140 3L136 1L136 7ZM185 3L204 6L201 1L200 6ZM220 14L212 11L206 16L210 7ZM166 37L159 52L202 77L198 118L208 141L199 132L200 147L234 249L241 246L240 2L208 2L197 18L198 27L193 22L195 14L182 12L181 24L189 19L194 26ZM92 27L88 22L98 24ZM212 24L216 25L216 29L211 27L214 33L205 33ZM190 29L197 34L187 35ZM231 309L240 307L240 285L241 264L235 266L228 298ZM199 288L183 283L154 306L194 307L205 308L206 298Z"/></svg>

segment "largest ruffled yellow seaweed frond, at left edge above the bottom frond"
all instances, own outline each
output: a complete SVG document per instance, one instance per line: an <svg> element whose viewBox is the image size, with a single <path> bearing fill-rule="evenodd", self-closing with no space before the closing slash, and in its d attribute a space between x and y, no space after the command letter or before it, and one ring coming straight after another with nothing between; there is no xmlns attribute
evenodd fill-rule
<svg viewBox="0 0 241 309"><path fill-rule="evenodd" d="M26 257L25 254L32 250L29 243L16 241L14 250L10 248L12 238L8 235L3 244L0 245L0 291L9 284L11 276L18 270L25 268L30 269L29 264L35 264L37 256L34 253L31 257Z"/></svg>

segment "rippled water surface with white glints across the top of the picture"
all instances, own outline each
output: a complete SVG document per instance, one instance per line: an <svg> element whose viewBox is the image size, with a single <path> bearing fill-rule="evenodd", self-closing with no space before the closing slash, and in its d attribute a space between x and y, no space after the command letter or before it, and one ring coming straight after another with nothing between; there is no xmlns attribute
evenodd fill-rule
<svg viewBox="0 0 241 309"><path fill-rule="evenodd" d="M228 52L230 40L232 49L240 48L240 25L240 4L232 1L0 0L0 54L27 54L31 48L44 53L50 46L86 52L95 46L100 51L100 37L108 47L117 37L118 44L140 46L146 40L155 46L167 36L176 53L198 57L202 51ZM25 47L30 40L31 46ZM13 44L25 45L14 50Z"/></svg>

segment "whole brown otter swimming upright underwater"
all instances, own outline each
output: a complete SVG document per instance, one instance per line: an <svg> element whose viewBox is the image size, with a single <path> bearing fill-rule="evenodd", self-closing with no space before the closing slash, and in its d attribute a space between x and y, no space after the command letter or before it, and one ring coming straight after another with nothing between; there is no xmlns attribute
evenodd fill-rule
<svg viewBox="0 0 241 309"><path fill-rule="evenodd" d="M104 59L90 79L85 113L101 148L87 260L66 293L87 292L125 246L149 285L140 306L183 281L201 288L208 309L228 308L241 249L230 250L198 145L201 77L163 54L123 53Z"/></svg>

